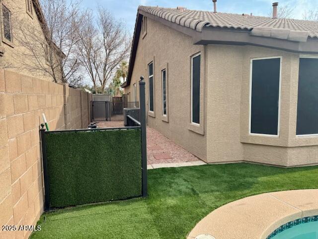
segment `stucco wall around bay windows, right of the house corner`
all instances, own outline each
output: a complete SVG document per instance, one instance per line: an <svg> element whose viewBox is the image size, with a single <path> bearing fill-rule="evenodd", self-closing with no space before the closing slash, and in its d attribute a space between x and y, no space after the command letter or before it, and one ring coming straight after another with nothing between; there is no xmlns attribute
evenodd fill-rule
<svg viewBox="0 0 318 239"><path fill-rule="evenodd" d="M250 60L275 56L282 57L279 136L251 135ZM296 136L299 56L255 46L208 45L208 162L318 163L318 137Z"/></svg>

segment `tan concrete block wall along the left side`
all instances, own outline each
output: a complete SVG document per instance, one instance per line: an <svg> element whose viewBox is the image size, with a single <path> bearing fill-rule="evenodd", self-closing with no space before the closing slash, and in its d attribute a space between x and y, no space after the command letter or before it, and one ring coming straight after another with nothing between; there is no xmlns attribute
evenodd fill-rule
<svg viewBox="0 0 318 239"><path fill-rule="evenodd" d="M35 225L43 212L39 125L50 129L86 128L85 92L0 69L0 225ZM2 239L30 232L2 232Z"/></svg>

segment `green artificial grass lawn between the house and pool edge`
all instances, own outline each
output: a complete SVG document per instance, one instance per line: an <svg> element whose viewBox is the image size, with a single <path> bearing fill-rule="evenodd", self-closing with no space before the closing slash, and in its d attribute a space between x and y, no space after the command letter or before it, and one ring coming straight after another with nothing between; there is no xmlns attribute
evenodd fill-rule
<svg viewBox="0 0 318 239"><path fill-rule="evenodd" d="M271 191L318 188L318 167L247 163L148 171L149 197L44 214L32 239L185 239L214 209Z"/></svg>

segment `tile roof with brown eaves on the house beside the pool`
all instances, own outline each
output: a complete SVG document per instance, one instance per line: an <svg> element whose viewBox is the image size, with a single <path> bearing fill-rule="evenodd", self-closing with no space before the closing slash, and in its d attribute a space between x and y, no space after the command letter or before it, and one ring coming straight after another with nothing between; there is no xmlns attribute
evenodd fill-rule
<svg viewBox="0 0 318 239"><path fill-rule="evenodd" d="M193 44L254 45L303 54L318 53L316 21L139 6L127 81L122 87L129 86L131 81L143 15L189 35Z"/></svg>

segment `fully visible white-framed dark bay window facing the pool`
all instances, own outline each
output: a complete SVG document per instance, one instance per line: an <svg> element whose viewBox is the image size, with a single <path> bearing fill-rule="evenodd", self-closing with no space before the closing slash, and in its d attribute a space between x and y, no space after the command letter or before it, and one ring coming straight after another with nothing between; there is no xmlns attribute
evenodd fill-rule
<svg viewBox="0 0 318 239"><path fill-rule="evenodd" d="M250 133L279 134L281 57L251 60Z"/></svg>

